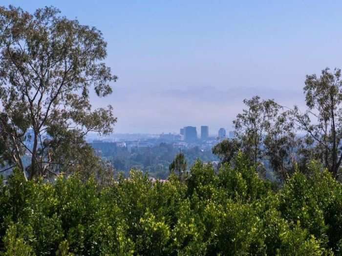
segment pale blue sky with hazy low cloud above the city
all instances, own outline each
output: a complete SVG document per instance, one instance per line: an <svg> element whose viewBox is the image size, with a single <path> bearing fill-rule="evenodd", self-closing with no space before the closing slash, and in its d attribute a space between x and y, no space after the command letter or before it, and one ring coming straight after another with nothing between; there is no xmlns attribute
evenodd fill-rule
<svg viewBox="0 0 342 256"><path fill-rule="evenodd" d="M273 98L304 110L305 76L342 68L342 1L1 0L33 12L53 5L95 26L119 79L115 133L232 130L243 99Z"/></svg>

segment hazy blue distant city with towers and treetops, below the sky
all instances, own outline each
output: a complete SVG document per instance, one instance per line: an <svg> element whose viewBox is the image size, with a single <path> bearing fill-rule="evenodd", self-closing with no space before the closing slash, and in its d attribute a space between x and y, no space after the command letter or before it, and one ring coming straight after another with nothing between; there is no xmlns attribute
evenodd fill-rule
<svg viewBox="0 0 342 256"><path fill-rule="evenodd" d="M185 126L179 133L151 134L112 134L102 138L88 135L86 140L96 154L110 162L116 172L128 175L133 169L142 170L150 177L167 178L169 165L173 158L183 152L189 167L199 159L218 165L218 158L212 152L213 147L227 138L234 138L234 132L226 133L220 128L216 135L211 135L209 126Z"/></svg>

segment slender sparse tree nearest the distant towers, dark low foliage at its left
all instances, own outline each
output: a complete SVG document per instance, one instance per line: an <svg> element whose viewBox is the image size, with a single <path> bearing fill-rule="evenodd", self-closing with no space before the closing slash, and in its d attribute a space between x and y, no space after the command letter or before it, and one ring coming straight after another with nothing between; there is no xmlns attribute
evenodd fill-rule
<svg viewBox="0 0 342 256"><path fill-rule="evenodd" d="M249 160L249 163L254 165L260 175L265 171L263 163L268 158L278 161L277 156L279 148L265 147L265 139L271 143L271 138L277 137L274 130L273 137L268 136L272 131L273 126L277 123L277 118L282 107L274 100L261 100L255 96L251 99L244 99L246 109L236 116L233 121L235 125L235 138L226 139L215 145L212 149L213 154L217 155L222 162L231 163L234 161L238 152L242 152ZM272 143L274 141L272 140ZM272 154L268 150L274 150ZM269 161L269 162L272 162ZM233 162L234 164L234 162ZM272 165L272 164L271 164Z"/></svg>

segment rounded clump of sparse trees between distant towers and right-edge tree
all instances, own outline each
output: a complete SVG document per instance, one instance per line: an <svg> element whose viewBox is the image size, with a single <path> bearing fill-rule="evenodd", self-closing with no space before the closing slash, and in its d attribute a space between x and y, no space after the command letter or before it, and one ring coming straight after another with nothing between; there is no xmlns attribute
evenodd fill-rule
<svg viewBox="0 0 342 256"><path fill-rule="evenodd" d="M244 103L248 108L234 121L236 137L215 145L213 154L222 162L231 162L242 151L258 171L260 162L268 163L283 180L294 171L294 163L303 152L292 112L282 111L274 100L260 100L258 96Z"/></svg>

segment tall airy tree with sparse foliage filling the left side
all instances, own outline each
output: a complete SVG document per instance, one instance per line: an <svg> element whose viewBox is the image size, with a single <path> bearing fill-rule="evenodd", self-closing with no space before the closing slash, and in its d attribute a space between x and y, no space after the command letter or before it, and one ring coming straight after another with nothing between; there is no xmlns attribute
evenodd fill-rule
<svg viewBox="0 0 342 256"><path fill-rule="evenodd" d="M107 134L116 122L111 106L92 110L89 102L91 88L105 97L117 79L101 62L106 47L99 30L54 7L34 14L0 7L0 162L33 179L77 167L75 154L92 153L85 135Z"/></svg>

